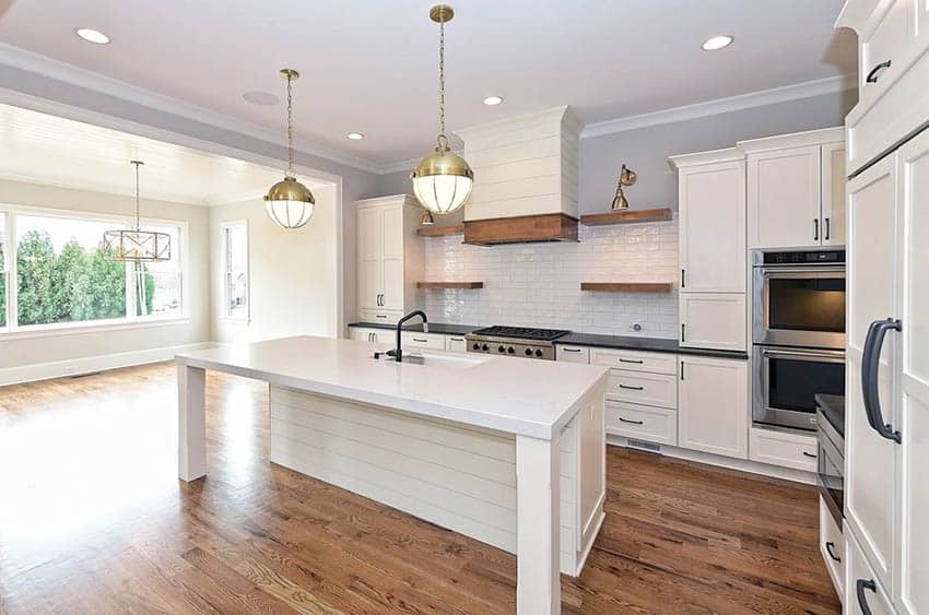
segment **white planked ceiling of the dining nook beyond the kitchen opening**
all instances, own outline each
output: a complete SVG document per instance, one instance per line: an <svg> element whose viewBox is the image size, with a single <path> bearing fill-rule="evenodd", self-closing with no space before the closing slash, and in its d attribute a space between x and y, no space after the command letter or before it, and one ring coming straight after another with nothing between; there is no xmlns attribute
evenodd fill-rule
<svg viewBox="0 0 929 615"><path fill-rule="evenodd" d="M0 105L0 177L113 194L215 205L258 199L283 176L272 169L55 116ZM319 186L301 178L310 187Z"/></svg>

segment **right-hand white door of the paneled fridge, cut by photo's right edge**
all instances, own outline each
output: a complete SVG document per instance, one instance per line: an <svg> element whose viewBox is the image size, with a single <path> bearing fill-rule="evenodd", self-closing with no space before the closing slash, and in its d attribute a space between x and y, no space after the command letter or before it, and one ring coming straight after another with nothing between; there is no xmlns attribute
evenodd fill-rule
<svg viewBox="0 0 929 615"><path fill-rule="evenodd" d="M929 23L926 24L929 26ZM899 152L903 241L902 613L929 613L929 133Z"/></svg>

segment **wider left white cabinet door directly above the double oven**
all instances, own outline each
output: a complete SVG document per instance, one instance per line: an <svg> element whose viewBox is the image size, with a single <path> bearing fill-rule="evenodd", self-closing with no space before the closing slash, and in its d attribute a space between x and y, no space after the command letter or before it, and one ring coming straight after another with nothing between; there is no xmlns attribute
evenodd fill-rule
<svg viewBox="0 0 929 615"><path fill-rule="evenodd" d="M749 154L749 246L820 245L820 146Z"/></svg>

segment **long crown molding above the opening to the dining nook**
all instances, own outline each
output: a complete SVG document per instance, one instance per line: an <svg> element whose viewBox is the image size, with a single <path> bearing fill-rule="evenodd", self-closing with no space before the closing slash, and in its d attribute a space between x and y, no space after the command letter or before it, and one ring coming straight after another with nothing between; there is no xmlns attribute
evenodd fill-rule
<svg viewBox="0 0 929 615"><path fill-rule="evenodd" d="M0 64L19 69L42 78L83 87L120 100L133 103L142 107L154 109L181 117L191 121L204 123L212 128L227 130L243 137L249 137L259 141L273 143L282 147L286 141L281 134L264 127L244 122L239 119L220 114L212 109L200 107L170 96L165 96L151 90L145 90L129 83L106 76L104 74L89 71L80 67L69 64L33 51L20 49L7 43L0 43ZM339 150L314 143L307 140L297 140L294 149L306 155L327 158L331 162L351 166L368 173L383 175L384 165L374 163L367 158L353 156Z"/></svg>

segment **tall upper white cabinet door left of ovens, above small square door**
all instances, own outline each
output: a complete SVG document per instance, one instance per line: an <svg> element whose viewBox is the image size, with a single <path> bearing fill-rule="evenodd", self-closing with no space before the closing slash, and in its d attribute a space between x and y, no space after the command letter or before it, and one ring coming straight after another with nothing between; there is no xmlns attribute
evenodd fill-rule
<svg viewBox="0 0 929 615"><path fill-rule="evenodd" d="M678 174L682 293L745 292L745 162Z"/></svg>

